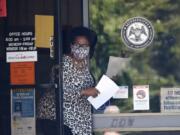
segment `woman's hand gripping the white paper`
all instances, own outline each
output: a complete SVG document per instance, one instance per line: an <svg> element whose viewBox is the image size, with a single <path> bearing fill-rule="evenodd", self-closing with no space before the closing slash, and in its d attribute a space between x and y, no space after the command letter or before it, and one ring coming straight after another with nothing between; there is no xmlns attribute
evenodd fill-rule
<svg viewBox="0 0 180 135"><path fill-rule="evenodd" d="M96 88L88 88L81 91L81 96L97 97L98 94L99 94L99 91Z"/></svg>

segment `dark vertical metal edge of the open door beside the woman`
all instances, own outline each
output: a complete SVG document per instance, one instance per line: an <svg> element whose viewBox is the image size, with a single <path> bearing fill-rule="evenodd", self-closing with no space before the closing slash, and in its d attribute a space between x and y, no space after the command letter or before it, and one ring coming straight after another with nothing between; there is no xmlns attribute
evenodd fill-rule
<svg viewBox="0 0 180 135"><path fill-rule="evenodd" d="M63 131L63 88L62 88L62 42L61 42L61 0L55 0L55 15L54 15L54 51L55 51L55 64L60 66L59 77L56 78L55 88L56 94L56 121L57 121L57 135L64 135Z"/></svg>

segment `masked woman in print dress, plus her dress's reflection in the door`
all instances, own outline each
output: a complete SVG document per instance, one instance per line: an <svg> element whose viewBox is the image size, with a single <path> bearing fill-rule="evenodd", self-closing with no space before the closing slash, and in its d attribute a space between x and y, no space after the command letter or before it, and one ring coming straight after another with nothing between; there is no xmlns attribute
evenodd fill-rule
<svg viewBox="0 0 180 135"><path fill-rule="evenodd" d="M87 97L96 97L99 92L94 88L95 82L89 71L89 59L93 55L97 36L94 31L86 27L75 27L70 32L69 41L69 50L66 46L66 54L62 62L64 134L91 135L91 104L87 101ZM46 103L46 108L51 112L45 109L43 105L45 100L47 98L40 100L38 117L55 119L53 100L49 100L49 105Z"/></svg>

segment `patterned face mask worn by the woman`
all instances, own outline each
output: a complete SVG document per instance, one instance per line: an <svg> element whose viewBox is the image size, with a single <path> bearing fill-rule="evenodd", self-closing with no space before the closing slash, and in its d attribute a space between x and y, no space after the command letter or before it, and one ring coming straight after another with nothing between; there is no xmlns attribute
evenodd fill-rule
<svg viewBox="0 0 180 135"><path fill-rule="evenodd" d="M85 59L89 55L89 46L79 45L79 44L73 44L71 46L71 53L76 59Z"/></svg>

